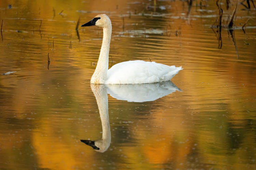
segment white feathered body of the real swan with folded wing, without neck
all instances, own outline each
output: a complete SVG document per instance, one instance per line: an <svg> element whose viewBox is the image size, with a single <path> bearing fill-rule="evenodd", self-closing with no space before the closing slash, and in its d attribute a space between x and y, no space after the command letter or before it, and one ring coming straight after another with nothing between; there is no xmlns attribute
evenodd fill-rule
<svg viewBox="0 0 256 170"><path fill-rule="evenodd" d="M127 61L108 70L107 84L142 84L169 81L182 68L155 62Z"/></svg>

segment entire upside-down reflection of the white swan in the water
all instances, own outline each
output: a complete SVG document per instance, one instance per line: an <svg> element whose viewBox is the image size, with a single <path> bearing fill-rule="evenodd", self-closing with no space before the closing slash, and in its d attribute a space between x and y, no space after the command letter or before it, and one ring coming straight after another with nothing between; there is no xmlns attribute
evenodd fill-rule
<svg viewBox="0 0 256 170"><path fill-rule="evenodd" d="M99 140L80 140L91 146L97 152L105 152L111 142L111 132L109 124L108 94L118 100L128 102L154 101L171 94L174 91L181 91L171 81L152 84L91 84L91 90L96 98L99 108L102 138Z"/></svg>

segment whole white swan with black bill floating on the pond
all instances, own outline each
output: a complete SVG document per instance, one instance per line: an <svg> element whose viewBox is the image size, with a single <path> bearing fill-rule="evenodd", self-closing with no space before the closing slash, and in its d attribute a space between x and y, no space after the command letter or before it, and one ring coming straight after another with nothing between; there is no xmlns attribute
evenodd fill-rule
<svg viewBox="0 0 256 170"><path fill-rule="evenodd" d="M182 67L167 66L141 60L126 61L109 67L109 48L112 25L106 14L100 14L81 27L98 26L103 28L103 39L98 63L91 77L91 84L144 84L170 81Z"/></svg>

